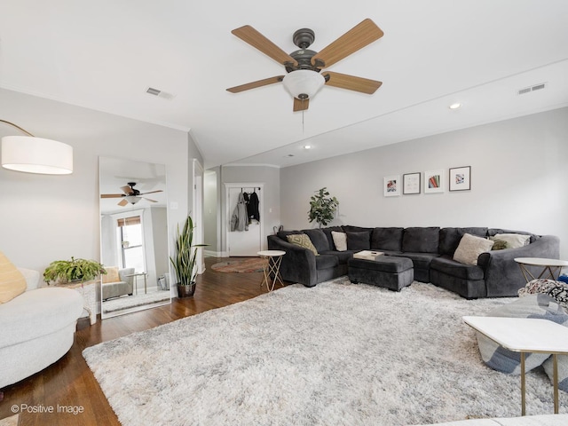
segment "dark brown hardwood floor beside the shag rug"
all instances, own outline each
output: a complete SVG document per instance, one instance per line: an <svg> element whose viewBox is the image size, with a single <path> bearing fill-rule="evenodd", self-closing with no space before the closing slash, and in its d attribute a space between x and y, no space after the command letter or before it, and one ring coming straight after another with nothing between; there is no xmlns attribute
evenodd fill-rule
<svg viewBox="0 0 568 426"><path fill-rule="evenodd" d="M20 414L20 425L120 425L100 390L99 383L83 359L83 349L122 335L160 326L266 293L265 287L260 288L262 272L225 273L211 270L211 264L221 260L226 259L216 257L205 259L206 272L198 277L197 288L192 298L174 299L172 304L167 306L103 321L99 316L93 326L89 324L88 318L79 319L75 342L63 358L36 375L1 390L4 392L4 400L0 402L0 419L13 415L12 406L17 406L16 412L20 412L21 407L26 405L30 408ZM41 353L37 356L41 357ZM76 407L75 409L83 412L57 413L58 407L60 411L61 407L66 406ZM50 407L53 407L55 413L28 412Z"/></svg>

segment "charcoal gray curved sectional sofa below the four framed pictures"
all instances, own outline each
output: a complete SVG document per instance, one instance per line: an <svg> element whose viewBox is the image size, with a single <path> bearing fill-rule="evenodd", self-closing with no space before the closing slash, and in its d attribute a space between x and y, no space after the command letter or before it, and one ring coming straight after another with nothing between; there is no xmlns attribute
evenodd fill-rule
<svg viewBox="0 0 568 426"><path fill-rule="evenodd" d="M332 231L346 233L347 250L337 251ZM305 233L318 251L291 244L287 235ZM469 233L492 237L497 233L530 235L530 243L482 253L477 265L461 264L453 258L461 237ZM386 256L407 257L413 262L414 280L431 282L466 298L517 296L526 281L515 257L559 257L560 241L554 235L485 227L361 227L332 226L302 231L281 231L268 236L268 248L284 250L280 273L284 280L313 287L348 272L348 262L360 250L383 251Z"/></svg>

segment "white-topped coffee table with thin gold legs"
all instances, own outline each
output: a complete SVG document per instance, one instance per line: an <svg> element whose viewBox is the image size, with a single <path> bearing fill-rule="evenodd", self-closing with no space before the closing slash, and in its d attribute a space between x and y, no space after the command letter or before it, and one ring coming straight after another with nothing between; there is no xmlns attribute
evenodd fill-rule
<svg viewBox="0 0 568 426"><path fill-rule="evenodd" d="M558 355L568 355L568 327L548 319L463 317L470 327L521 354L521 415L525 415L525 352L550 353L554 368L554 413L558 413Z"/></svg>

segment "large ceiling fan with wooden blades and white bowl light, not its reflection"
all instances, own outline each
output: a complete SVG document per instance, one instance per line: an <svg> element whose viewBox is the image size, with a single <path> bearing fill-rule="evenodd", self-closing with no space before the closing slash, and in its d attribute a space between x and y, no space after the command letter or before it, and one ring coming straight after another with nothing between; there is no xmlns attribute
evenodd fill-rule
<svg viewBox="0 0 568 426"><path fill-rule="evenodd" d="M298 29L292 39L294 44L300 49L293 51L289 55L249 25L233 29L231 32L279 62L288 72L287 75L276 75L227 89L227 91L232 93L282 82L294 97L294 111L304 111L308 109L310 99L324 84L369 95L375 93L383 84L382 82L354 75L345 75L331 71L320 73L323 68L332 66L335 62L351 55L355 51L359 51L359 49L383 36L384 33L381 28L378 28L372 20L361 21L319 52L308 49L315 40L312 29Z"/></svg>

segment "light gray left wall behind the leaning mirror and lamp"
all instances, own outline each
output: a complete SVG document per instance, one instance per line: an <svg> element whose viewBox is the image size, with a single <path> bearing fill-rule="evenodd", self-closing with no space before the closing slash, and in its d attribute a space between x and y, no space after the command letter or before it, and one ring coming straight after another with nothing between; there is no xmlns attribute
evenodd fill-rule
<svg viewBox="0 0 568 426"><path fill-rule="evenodd" d="M0 118L74 148L72 175L0 169L0 250L14 264L43 272L56 259L99 260L99 155L165 164L168 199L179 206L168 213L170 235L185 221L190 155L202 162L186 131L3 89ZM0 137L19 134L0 123Z"/></svg>

